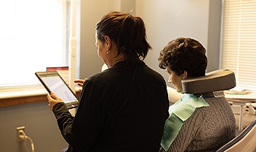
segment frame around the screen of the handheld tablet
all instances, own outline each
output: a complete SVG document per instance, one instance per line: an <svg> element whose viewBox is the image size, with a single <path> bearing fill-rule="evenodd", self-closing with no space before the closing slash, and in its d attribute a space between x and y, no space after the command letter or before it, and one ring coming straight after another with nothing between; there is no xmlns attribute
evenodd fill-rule
<svg viewBox="0 0 256 152"><path fill-rule="evenodd" d="M48 93L52 93L52 90L47 86L47 84L45 84L45 81L42 80L42 75L52 75L52 74L56 74L58 75L59 78L61 78L61 80L63 81L63 83L67 86L67 88L70 90L70 92L73 94L73 96L76 97L76 94L73 93L73 90L71 90L71 88L67 85L67 83L64 81L64 79L61 77L61 75L58 73L58 71L36 71L35 72L36 77L39 79L39 81L41 82L42 86L45 87L45 89L47 90ZM61 97L60 97L61 98ZM76 98L76 102L64 102L65 105L67 106L68 109L71 108L76 108L79 105L79 100Z"/></svg>

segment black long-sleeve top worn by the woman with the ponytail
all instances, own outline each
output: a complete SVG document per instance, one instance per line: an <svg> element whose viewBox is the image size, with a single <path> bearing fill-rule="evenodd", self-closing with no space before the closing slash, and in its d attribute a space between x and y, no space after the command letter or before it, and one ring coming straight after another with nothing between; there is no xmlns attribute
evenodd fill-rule
<svg viewBox="0 0 256 152"><path fill-rule="evenodd" d="M158 151L168 114L164 78L145 62L92 75L84 84L75 117L54 106L68 151Z"/></svg>

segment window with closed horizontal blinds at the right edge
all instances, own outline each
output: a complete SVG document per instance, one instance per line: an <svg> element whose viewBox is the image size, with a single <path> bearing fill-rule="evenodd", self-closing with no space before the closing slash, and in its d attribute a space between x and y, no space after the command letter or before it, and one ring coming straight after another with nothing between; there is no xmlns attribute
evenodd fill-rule
<svg viewBox="0 0 256 152"><path fill-rule="evenodd" d="M236 74L235 90L256 90L256 1L224 0L221 68Z"/></svg>

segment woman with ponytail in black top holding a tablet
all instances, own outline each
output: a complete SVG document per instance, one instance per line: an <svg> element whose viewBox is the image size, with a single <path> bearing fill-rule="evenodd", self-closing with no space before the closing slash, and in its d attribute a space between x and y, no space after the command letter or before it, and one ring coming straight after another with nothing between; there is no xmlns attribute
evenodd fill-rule
<svg viewBox="0 0 256 152"><path fill-rule="evenodd" d="M48 95L67 151L158 151L169 103L164 78L143 62L151 49L143 20L106 14L96 25L95 45L108 69L76 81L83 89L75 117Z"/></svg>

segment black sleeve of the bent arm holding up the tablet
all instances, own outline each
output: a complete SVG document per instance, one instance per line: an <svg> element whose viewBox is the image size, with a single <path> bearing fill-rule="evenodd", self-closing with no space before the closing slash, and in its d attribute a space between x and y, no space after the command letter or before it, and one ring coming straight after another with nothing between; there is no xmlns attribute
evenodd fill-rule
<svg viewBox="0 0 256 152"><path fill-rule="evenodd" d="M58 103L53 111L61 134L73 150L84 151L95 146L104 126L105 105L101 101L106 96L101 83L86 81L83 84L80 105L73 117L64 103ZM100 86L100 87L99 87Z"/></svg>

